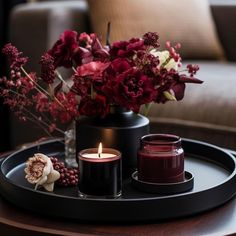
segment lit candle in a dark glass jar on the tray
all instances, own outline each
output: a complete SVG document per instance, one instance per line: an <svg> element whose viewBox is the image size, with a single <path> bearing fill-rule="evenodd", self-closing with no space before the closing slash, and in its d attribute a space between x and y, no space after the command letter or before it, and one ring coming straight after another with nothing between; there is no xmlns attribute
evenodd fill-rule
<svg viewBox="0 0 236 236"><path fill-rule="evenodd" d="M121 195L121 153L104 148L79 152L79 194L82 197L116 198Z"/></svg>

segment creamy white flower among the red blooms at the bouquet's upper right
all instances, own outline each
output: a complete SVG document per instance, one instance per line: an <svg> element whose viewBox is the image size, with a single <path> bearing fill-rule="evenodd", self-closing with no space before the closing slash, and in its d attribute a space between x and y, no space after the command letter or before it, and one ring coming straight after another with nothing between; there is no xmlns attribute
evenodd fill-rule
<svg viewBox="0 0 236 236"><path fill-rule="evenodd" d="M152 49L150 51L150 53L155 56L155 57L158 57L159 60L160 60L160 64L159 64L159 68L164 65L164 68L167 70L167 71L170 71L171 69L174 69L174 70L178 70L178 65L180 64L180 61L178 60L177 62L171 58L168 63L167 60L169 59L170 57L170 53L169 51L165 50L165 51L157 51L156 49ZM166 63L166 64L165 64Z"/></svg>

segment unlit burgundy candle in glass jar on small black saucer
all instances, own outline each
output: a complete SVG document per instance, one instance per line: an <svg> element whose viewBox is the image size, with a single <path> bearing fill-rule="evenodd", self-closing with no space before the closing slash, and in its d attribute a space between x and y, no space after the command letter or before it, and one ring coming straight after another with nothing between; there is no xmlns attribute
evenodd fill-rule
<svg viewBox="0 0 236 236"><path fill-rule="evenodd" d="M138 151L138 179L154 183L183 181L184 151L181 138L170 134L142 137Z"/></svg>

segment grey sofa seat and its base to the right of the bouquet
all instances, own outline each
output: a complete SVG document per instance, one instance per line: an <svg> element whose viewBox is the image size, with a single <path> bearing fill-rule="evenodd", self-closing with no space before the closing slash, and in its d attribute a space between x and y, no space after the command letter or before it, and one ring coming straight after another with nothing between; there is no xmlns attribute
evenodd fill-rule
<svg viewBox="0 0 236 236"><path fill-rule="evenodd" d="M203 84L188 84L179 102L153 104L149 112L153 132L236 147L236 63L194 61Z"/></svg>

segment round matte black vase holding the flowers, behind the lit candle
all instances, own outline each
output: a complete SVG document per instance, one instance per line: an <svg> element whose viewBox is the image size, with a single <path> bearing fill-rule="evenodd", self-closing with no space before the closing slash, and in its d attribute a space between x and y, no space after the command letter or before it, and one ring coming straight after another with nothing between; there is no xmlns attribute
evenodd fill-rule
<svg viewBox="0 0 236 236"><path fill-rule="evenodd" d="M115 148L122 153L123 177L128 177L137 166L140 138L149 133L149 120L124 108L112 107L104 118L81 117L76 122L76 153L98 147Z"/></svg>

